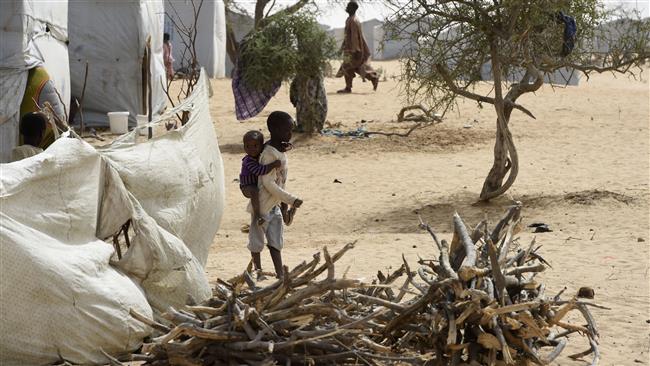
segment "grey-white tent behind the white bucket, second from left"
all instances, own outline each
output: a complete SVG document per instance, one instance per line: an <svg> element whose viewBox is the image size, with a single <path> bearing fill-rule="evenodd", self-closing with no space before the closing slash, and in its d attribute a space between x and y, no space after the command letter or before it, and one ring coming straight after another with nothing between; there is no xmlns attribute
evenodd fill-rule
<svg viewBox="0 0 650 366"><path fill-rule="evenodd" d="M81 96L88 62L83 101L86 124L106 126L107 112L129 111L132 123L137 114L146 114L142 64L147 40L151 42L153 112L160 112L167 102L163 0L70 0L68 14L70 74L76 97Z"/></svg>

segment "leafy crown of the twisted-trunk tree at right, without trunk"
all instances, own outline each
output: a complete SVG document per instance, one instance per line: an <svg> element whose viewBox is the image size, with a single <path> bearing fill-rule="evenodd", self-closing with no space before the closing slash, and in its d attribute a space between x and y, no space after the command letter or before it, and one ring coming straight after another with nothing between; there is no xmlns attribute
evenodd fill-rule
<svg viewBox="0 0 650 366"><path fill-rule="evenodd" d="M408 99L440 111L454 105L459 90L473 91L481 68L493 57L503 80L521 82L522 70L530 67L543 74L564 67L585 74L630 72L650 52L648 22L613 14L600 0L387 2L395 14L385 30L410 49L403 58ZM559 11L574 17L578 28L575 48L566 57L560 55L564 26L556 19ZM611 22L622 17L628 19L624 26Z"/></svg>

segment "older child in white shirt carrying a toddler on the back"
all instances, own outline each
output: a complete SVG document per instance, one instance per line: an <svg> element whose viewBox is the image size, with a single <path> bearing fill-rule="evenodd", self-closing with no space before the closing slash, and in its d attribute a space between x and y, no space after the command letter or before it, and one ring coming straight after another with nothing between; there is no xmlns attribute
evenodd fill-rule
<svg viewBox="0 0 650 366"><path fill-rule="evenodd" d="M256 222L254 210L252 204L248 206L252 218L248 232L248 250L251 251L255 269L261 270L260 253L264 249L264 238L266 237L275 273L278 278L281 278L283 276L281 250L284 246L282 227L282 212L284 210L281 210L280 206L284 203L291 205L294 209L300 207L302 200L284 189L287 182L285 151L291 146L289 140L291 140L291 130L294 125L293 119L285 112L276 111L269 115L266 125L271 133L271 140L264 146L259 161L261 164L271 164L280 160L281 166L269 174L260 176L259 179L259 202L260 213L264 219L263 225L254 225ZM295 212L295 210L290 211Z"/></svg>

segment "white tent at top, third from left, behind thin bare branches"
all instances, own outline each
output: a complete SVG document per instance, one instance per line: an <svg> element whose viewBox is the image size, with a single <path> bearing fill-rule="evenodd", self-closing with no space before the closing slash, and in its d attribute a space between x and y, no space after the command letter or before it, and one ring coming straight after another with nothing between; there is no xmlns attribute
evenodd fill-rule
<svg viewBox="0 0 650 366"><path fill-rule="evenodd" d="M200 1L165 0L165 32L172 42L174 69L182 69L189 54L183 55L186 46L174 27L194 24L194 14ZM223 0L204 0L196 25L196 52L199 64L209 77L222 78L226 74L226 11Z"/></svg>

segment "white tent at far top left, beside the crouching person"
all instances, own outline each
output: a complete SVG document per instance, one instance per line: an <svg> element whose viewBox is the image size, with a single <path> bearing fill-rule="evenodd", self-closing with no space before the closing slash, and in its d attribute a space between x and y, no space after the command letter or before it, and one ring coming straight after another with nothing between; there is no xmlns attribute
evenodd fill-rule
<svg viewBox="0 0 650 366"><path fill-rule="evenodd" d="M18 143L20 103L27 72L45 66L66 106L70 100L68 2L0 2L0 162Z"/></svg>

